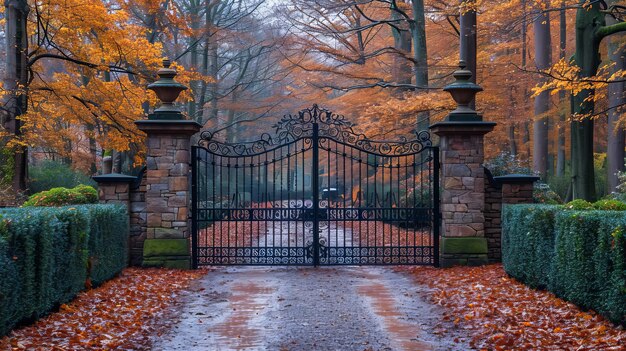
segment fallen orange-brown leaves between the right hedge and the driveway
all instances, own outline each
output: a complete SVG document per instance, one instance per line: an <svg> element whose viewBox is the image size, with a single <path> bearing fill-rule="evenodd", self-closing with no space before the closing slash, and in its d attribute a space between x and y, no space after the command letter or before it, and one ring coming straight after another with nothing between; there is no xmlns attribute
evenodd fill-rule
<svg viewBox="0 0 626 351"><path fill-rule="evenodd" d="M471 335L474 349L626 350L622 327L528 288L508 277L502 265L410 271L433 289L430 300L444 307L444 321ZM444 329L437 332L454 332Z"/></svg>

